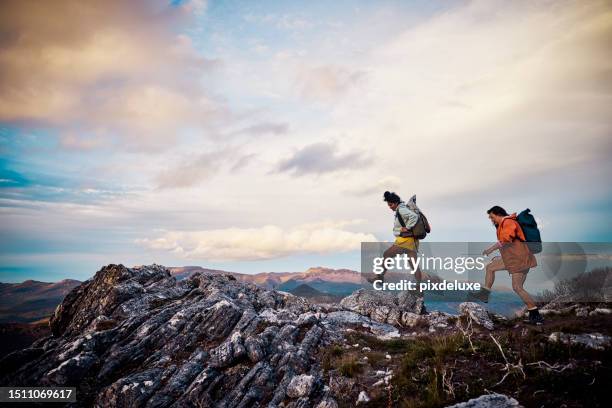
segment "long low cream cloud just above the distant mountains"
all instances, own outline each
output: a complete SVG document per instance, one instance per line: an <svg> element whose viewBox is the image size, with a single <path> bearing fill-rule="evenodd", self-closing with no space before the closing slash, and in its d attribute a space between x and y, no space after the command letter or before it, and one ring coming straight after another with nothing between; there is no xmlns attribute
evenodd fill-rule
<svg viewBox="0 0 612 408"><path fill-rule="evenodd" d="M265 260L297 254L358 250L361 242L376 241L372 234L343 229L357 222L320 222L291 229L266 225L259 228L166 231L158 238L140 239L137 243L187 259L212 262Z"/></svg>

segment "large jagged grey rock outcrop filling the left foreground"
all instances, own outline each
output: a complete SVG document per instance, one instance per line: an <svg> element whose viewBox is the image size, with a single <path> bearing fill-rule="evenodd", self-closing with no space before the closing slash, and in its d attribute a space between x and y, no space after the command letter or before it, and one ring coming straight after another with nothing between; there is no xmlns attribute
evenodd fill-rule
<svg viewBox="0 0 612 408"><path fill-rule="evenodd" d="M399 336L341 306L228 274L177 282L160 265L103 267L66 296L50 326L51 337L0 361L0 382L76 385L83 406L111 407L334 408L330 393L344 397L354 381L323 387L319 348L356 326Z"/></svg>

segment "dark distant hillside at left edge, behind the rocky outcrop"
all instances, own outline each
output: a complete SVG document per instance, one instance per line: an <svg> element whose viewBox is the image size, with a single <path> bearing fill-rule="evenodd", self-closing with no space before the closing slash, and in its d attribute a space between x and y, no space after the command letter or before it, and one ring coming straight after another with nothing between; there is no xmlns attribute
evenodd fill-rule
<svg viewBox="0 0 612 408"><path fill-rule="evenodd" d="M0 323L29 323L49 317L68 292L80 284L74 279L0 283Z"/></svg>

